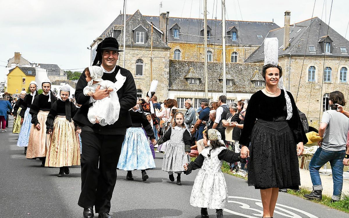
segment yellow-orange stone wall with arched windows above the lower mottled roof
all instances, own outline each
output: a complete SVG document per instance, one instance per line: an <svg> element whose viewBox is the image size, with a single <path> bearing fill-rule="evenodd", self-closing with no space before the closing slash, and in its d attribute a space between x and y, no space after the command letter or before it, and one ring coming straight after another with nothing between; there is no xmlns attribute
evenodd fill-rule
<svg viewBox="0 0 349 218"><path fill-rule="evenodd" d="M179 49L181 51L180 60L191 60L191 61L204 61L203 54L205 53L203 44L201 43L174 43L170 42L168 44L171 47L170 50L170 59L173 59L174 50ZM197 47L200 46L200 47ZM222 62L222 45L212 45L208 44L208 51L212 52L212 61ZM242 63L254 52L259 46L251 45L226 45L226 60L227 62L231 61L231 54L233 52L238 53L238 63ZM229 48L229 49L228 49Z"/></svg>

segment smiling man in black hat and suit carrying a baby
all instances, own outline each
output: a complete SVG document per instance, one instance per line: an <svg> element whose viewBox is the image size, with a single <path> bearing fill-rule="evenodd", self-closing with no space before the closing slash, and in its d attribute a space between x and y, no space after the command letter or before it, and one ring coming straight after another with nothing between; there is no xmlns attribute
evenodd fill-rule
<svg viewBox="0 0 349 218"><path fill-rule="evenodd" d="M86 75L82 73L76 84L75 99L81 104L73 120L81 128L81 194L79 206L84 208L83 217L94 217L93 206L98 218L111 218L110 200L116 183L116 168L124 141L126 128L132 126L128 110L136 105L137 92L133 76L128 70L116 65L119 58L119 44L113 37L105 38L97 47L93 65L101 66L103 80L124 81L117 91L120 102L120 115L113 125L92 124L87 118L89 104L94 100L109 96L106 89L97 87L93 99L83 94L87 86ZM125 80L126 77L126 80ZM121 78L121 79L120 79Z"/></svg>

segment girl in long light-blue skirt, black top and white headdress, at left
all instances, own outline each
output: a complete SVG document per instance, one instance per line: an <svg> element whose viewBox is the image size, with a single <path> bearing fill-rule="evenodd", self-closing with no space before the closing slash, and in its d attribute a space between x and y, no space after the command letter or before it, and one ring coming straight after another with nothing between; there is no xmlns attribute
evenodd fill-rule
<svg viewBox="0 0 349 218"><path fill-rule="evenodd" d="M36 84L35 81L31 81L29 86L31 84ZM23 118L23 123L21 127L20 134L18 135L18 141L17 146L18 147L24 147L24 154L27 153L27 146L29 141L29 135L30 135L30 129L31 129L31 114L29 113L31 104L34 101L35 96L37 96L37 91L34 91L33 93L27 94L22 102L21 105L21 111L19 112L19 115L21 118ZM17 113L18 114L18 113Z"/></svg>

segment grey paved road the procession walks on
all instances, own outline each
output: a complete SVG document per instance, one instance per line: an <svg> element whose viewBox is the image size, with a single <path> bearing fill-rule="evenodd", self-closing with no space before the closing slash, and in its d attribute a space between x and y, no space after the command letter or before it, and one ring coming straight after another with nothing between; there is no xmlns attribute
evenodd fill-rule
<svg viewBox="0 0 349 218"><path fill-rule="evenodd" d="M0 218L81 218L82 208L77 205L80 167L71 167L69 175L57 177L57 168L40 167L39 160L25 159L23 148L16 146L18 135L11 130L0 133ZM156 154L157 168L148 171L146 182L142 182L140 171L133 173L135 181L127 181L126 172L118 171L111 202L113 218L200 217L200 209L189 204L197 171L182 175L183 186L177 186L161 171L162 156ZM244 179L228 174L225 178L230 198L224 217L262 217L259 191L248 187ZM280 193L277 203L275 218L349 217L286 193ZM209 215L215 217L215 210L209 210Z"/></svg>

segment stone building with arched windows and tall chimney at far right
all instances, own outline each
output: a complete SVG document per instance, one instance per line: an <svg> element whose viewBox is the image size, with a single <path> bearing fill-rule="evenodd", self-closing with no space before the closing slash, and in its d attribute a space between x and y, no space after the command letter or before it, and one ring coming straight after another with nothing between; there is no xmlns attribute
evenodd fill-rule
<svg viewBox="0 0 349 218"><path fill-rule="evenodd" d="M341 91L347 102L349 41L318 17L272 30L267 37L279 39L279 64L284 84L307 115L310 126L318 129L322 112L328 110L329 93ZM264 44L246 62L263 63Z"/></svg>

